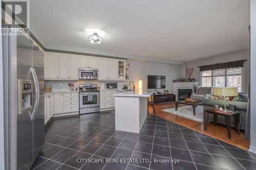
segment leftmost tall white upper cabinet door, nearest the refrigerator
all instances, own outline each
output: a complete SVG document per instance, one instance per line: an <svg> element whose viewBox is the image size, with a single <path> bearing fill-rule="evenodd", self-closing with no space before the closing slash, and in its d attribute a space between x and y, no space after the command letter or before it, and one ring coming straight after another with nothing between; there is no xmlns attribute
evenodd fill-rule
<svg viewBox="0 0 256 170"><path fill-rule="evenodd" d="M48 79L59 78L59 54L58 53L47 53L47 68Z"/></svg>

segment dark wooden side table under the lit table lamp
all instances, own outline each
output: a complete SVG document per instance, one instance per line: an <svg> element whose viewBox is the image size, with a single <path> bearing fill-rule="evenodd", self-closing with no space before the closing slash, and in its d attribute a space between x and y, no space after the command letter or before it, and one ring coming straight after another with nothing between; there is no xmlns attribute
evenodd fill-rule
<svg viewBox="0 0 256 170"><path fill-rule="evenodd" d="M227 135L228 138L231 139L231 117L233 116L234 118L234 124L236 126L236 131L237 133L239 133L238 131L238 117L236 113L219 113L216 112L213 109L205 109L204 110L204 130L207 130L207 123L209 121L209 114L214 114L214 126L216 126L217 124L217 116L225 116L225 120L226 120L226 127L227 127Z"/></svg>

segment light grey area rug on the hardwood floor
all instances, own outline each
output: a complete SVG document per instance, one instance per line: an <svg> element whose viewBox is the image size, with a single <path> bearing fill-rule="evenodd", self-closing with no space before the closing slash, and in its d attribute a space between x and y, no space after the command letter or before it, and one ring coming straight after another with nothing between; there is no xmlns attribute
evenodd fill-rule
<svg viewBox="0 0 256 170"><path fill-rule="evenodd" d="M164 109L162 111L173 113L179 115L181 117L185 117L191 120L195 120L196 122L204 122L203 118L203 106L196 107L196 115L193 115L193 107L192 106L182 106L178 107L177 111L175 108Z"/></svg>

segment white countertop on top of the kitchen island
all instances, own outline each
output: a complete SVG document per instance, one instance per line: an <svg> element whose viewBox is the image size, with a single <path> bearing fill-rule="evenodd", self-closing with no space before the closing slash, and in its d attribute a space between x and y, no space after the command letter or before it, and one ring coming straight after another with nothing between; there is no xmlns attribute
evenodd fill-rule
<svg viewBox="0 0 256 170"><path fill-rule="evenodd" d="M114 96L126 96L126 97L150 97L153 93L151 90L134 90L134 91L121 91Z"/></svg>

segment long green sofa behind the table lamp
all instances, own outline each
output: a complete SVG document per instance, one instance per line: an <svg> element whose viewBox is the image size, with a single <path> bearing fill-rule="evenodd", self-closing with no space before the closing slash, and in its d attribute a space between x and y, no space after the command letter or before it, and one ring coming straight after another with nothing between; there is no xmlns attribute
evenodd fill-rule
<svg viewBox="0 0 256 170"><path fill-rule="evenodd" d="M202 104L204 109L212 108L214 105L219 105L224 108L224 101L223 100L212 100L212 99L203 99ZM245 130L246 125L246 114L247 114L247 105L248 105L248 94L247 93L239 93L238 96L234 97L232 101L226 101L226 108L229 108L229 105L235 105L236 111L241 113L241 125L240 129ZM214 121L214 115L209 114L209 120ZM217 123L226 125L225 117L218 116ZM234 120L231 119L231 126L234 126Z"/></svg>

